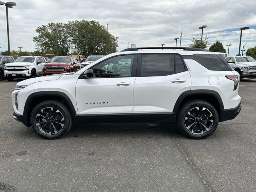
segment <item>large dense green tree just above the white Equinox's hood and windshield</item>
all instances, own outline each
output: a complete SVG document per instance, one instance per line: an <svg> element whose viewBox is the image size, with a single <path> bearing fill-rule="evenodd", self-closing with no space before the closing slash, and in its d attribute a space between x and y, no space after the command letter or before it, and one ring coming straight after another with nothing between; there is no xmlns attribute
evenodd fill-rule
<svg viewBox="0 0 256 192"><path fill-rule="evenodd" d="M77 52L87 57L89 55L107 55L117 52L117 37L110 34L106 28L96 21L70 21L68 34L74 48L76 39Z"/></svg>

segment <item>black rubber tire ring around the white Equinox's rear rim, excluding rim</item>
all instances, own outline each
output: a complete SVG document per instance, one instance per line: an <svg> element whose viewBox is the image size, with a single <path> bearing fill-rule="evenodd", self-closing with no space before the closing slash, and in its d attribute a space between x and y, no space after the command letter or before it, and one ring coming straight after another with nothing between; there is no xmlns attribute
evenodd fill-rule
<svg viewBox="0 0 256 192"><path fill-rule="evenodd" d="M200 135L193 134L186 128L185 116L189 110L191 110L192 108L195 108L195 107L204 107L204 108L208 109L214 117L214 122L212 124L212 128L204 134L200 134ZM216 128L218 126L218 122L219 122L219 116L218 116L217 110L214 108L214 106L212 106L210 103L205 102L205 101L198 100L198 101L188 102L182 106L182 109L178 113L178 126L180 128L180 131L190 138L202 139L202 138L206 138L206 137L210 136L216 130Z"/></svg>

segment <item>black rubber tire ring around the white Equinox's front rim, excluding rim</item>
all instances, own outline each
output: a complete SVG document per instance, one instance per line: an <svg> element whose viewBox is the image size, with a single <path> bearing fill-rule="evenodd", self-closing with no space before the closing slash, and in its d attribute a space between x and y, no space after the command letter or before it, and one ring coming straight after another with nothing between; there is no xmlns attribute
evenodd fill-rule
<svg viewBox="0 0 256 192"><path fill-rule="evenodd" d="M44 134L36 126L36 114L38 113L39 110L41 110L43 108L47 108L47 107L53 107L53 108L58 109L62 113L62 115L65 119L64 127L62 128L62 130L54 135ZM72 116L71 116L71 113L68 110L68 108L61 102L46 101L46 102L42 102L42 103L38 104L32 110L32 113L30 116L30 124L31 124L34 132L36 132L36 134L38 134L39 136L46 138L46 139L56 139L56 138L60 138L60 137L64 136L70 130L70 128L72 126Z"/></svg>

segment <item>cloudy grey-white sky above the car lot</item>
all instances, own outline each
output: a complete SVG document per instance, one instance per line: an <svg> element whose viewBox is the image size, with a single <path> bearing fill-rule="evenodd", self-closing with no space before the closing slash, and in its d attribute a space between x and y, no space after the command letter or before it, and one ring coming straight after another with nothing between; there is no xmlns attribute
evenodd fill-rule
<svg viewBox="0 0 256 192"><path fill-rule="evenodd" d="M3 1L3 0L1 0ZM4 1L5 2L5 1ZM210 44L216 40L230 46L229 55L238 54L240 28L242 46L256 46L255 0L14 0L9 8L10 49L36 50L35 29L49 22L96 20L118 37L118 51L136 44L144 46L175 46L174 38L182 30L181 46L189 46L191 38L204 28ZM82 30L82 29L81 29ZM0 47L7 50L5 6L0 6ZM180 41L178 40L178 46ZM241 48L242 49L242 48Z"/></svg>

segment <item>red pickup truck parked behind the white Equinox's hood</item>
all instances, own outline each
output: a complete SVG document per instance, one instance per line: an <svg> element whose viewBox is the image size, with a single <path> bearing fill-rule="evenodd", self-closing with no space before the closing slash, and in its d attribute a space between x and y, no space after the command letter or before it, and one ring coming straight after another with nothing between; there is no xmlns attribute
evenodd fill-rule
<svg viewBox="0 0 256 192"><path fill-rule="evenodd" d="M43 67L43 75L52 75L60 73L75 72L81 68L80 64L74 57L57 56L53 57L50 62Z"/></svg>

